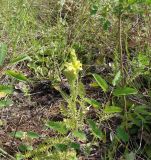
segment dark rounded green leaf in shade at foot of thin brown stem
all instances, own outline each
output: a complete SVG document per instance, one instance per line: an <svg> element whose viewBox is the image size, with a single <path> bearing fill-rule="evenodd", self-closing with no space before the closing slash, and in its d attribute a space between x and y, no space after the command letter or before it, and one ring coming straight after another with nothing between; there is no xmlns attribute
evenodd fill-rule
<svg viewBox="0 0 151 160"><path fill-rule="evenodd" d="M124 128L122 127L118 127L116 130L116 135L117 137L122 140L123 142L128 142L129 140L129 135L128 133L125 131Z"/></svg>

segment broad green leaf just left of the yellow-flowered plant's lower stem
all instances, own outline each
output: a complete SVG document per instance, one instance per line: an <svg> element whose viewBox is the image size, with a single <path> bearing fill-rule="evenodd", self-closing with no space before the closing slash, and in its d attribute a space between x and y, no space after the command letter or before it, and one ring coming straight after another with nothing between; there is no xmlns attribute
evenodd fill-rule
<svg viewBox="0 0 151 160"><path fill-rule="evenodd" d="M66 134L68 132L68 129L63 122L49 121L47 122L46 126L61 134Z"/></svg>

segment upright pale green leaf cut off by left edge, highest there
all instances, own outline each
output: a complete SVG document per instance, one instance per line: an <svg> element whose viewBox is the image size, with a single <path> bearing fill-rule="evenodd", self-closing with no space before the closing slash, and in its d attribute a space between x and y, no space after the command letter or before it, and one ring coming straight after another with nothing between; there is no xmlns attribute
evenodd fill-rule
<svg viewBox="0 0 151 160"><path fill-rule="evenodd" d="M0 44L0 66L4 64L4 60L7 55L7 45L6 44Z"/></svg>

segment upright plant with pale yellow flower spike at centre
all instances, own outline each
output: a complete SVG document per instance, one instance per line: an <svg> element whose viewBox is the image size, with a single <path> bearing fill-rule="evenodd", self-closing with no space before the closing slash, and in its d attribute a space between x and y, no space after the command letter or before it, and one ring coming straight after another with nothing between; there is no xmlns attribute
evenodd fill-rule
<svg viewBox="0 0 151 160"><path fill-rule="evenodd" d="M70 61L65 63L64 74L70 85L70 96L66 99L68 102L68 107L62 108L66 119L64 122L70 129L78 129L81 124L83 125L84 112L86 106L84 104L85 89L82 82L79 81L79 73L82 71L82 63L78 60L75 50L70 50ZM80 99L78 98L80 97ZM77 108L79 104L79 108ZM81 127L82 128L82 127Z"/></svg>

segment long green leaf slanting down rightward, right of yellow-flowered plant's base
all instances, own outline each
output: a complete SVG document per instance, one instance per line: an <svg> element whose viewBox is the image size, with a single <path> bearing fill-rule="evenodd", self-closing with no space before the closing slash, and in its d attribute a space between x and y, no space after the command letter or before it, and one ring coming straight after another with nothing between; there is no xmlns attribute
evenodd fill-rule
<svg viewBox="0 0 151 160"><path fill-rule="evenodd" d="M92 131L92 134L99 138L102 139L103 137L103 133L101 132L101 130L97 127L96 123L92 120L92 119L88 119L88 123L89 123L89 127Z"/></svg>

